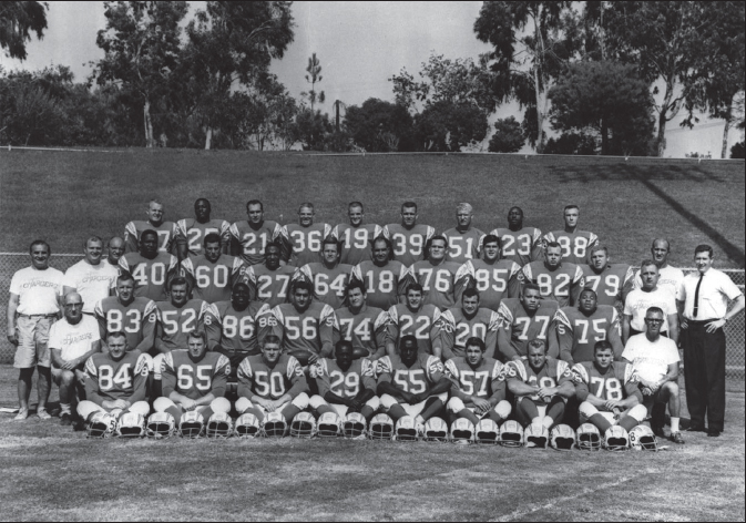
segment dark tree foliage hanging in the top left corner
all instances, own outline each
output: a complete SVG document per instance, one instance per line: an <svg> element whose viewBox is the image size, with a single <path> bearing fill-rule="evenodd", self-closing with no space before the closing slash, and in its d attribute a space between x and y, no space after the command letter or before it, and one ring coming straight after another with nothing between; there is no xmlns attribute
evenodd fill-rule
<svg viewBox="0 0 746 523"><path fill-rule="evenodd" d="M41 40L47 29L47 2L0 2L0 48L6 55L25 60L31 32Z"/></svg>

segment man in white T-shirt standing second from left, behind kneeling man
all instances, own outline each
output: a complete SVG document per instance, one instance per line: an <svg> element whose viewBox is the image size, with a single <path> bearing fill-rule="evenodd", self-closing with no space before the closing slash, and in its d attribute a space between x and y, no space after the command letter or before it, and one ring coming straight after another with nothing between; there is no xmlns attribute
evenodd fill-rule
<svg viewBox="0 0 746 523"><path fill-rule="evenodd" d="M93 316L95 304L111 295L116 285L119 268L102 263L103 239L91 236L83 244L85 257L64 274L63 296L78 293L83 298L83 312Z"/></svg>

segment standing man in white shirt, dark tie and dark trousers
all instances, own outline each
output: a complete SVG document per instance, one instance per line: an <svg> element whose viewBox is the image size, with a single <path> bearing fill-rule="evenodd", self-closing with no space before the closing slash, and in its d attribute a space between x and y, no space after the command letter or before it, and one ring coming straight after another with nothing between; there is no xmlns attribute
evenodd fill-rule
<svg viewBox="0 0 746 523"><path fill-rule="evenodd" d="M713 248L694 249L697 271L684 278L677 306L684 332L686 404L689 430L718 437L725 418L725 324L744 309L744 294L723 271L713 268ZM735 305L728 311L728 300Z"/></svg>

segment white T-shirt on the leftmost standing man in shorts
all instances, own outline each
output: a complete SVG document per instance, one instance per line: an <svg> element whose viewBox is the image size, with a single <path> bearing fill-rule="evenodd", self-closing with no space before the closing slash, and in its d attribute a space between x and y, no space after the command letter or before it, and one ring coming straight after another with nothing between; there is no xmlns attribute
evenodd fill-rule
<svg viewBox="0 0 746 523"><path fill-rule="evenodd" d="M17 271L10 280L10 293L19 296L18 314L53 315L60 311L64 275L52 267L44 270L31 266Z"/></svg>

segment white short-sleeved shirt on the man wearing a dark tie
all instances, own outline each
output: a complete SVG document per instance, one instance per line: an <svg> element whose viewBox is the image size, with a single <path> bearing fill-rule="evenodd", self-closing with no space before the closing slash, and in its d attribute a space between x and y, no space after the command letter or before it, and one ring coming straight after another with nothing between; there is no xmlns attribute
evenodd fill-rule
<svg viewBox="0 0 746 523"><path fill-rule="evenodd" d="M743 293L733 280L723 273L709 268L702 277L699 286L699 306L697 317L694 317L694 295L699 281L699 271L688 274L676 299L684 301L684 318L705 321L721 319L728 311L728 301L736 299Z"/></svg>

